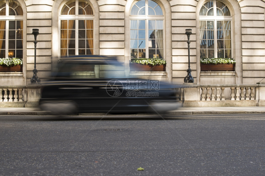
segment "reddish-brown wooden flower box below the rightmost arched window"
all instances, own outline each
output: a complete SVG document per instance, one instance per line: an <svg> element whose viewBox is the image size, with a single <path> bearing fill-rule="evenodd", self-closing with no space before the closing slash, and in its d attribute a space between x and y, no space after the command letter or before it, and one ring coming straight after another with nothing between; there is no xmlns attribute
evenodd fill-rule
<svg viewBox="0 0 265 176"><path fill-rule="evenodd" d="M201 71L234 71L235 63L223 63L223 64L202 64L201 63Z"/></svg>

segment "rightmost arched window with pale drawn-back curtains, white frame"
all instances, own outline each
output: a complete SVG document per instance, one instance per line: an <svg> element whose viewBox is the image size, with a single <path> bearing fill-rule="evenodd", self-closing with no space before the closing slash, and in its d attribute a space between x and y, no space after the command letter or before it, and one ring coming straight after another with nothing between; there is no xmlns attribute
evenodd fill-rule
<svg viewBox="0 0 265 176"><path fill-rule="evenodd" d="M218 0L200 10L200 58L232 58L231 13Z"/></svg>

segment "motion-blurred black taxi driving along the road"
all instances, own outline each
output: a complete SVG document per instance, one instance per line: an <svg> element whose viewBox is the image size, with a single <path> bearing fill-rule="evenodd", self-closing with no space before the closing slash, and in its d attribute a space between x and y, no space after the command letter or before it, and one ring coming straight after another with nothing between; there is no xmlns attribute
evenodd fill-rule
<svg viewBox="0 0 265 176"><path fill-rule="evenodd" d="M161 113L177 109L176 87L125 78L124 64L99 55L61 59L42 84L39 106L54 114Z"/></svg>

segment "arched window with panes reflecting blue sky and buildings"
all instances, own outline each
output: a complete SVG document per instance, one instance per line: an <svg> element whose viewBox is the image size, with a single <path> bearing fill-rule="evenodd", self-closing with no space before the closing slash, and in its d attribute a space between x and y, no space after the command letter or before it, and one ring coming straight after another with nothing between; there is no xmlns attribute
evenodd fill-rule
<svg viewBox="0 0 265 176"><path fill-rule="evenodd" d="M164 57L164 16L152 0L137 1L130 13L131 58Z"/></svg>

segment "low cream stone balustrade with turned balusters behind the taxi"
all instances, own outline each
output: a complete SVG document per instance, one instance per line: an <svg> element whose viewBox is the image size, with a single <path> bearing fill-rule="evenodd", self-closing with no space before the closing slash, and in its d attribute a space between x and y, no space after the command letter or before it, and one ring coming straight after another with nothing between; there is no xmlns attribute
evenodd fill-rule
<svg viewBox="0 0 265 176"><path fill-rule="evenodd" d="M0 107L37 107L40 84L0 86ZM265 84L197 85L185 83L177 88L177 102L186 107L265 106Z"/></svg>

